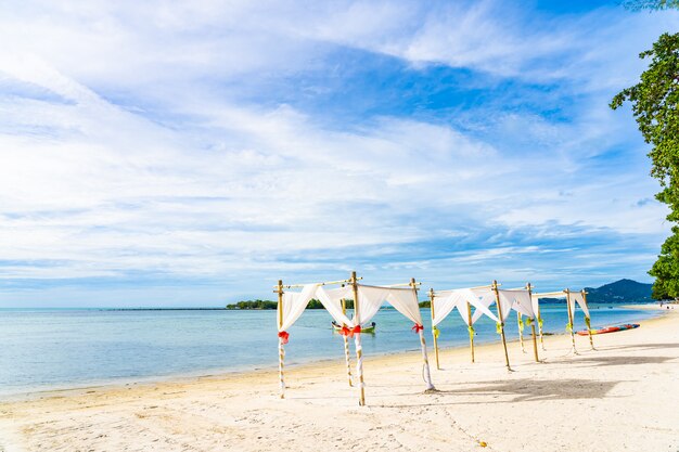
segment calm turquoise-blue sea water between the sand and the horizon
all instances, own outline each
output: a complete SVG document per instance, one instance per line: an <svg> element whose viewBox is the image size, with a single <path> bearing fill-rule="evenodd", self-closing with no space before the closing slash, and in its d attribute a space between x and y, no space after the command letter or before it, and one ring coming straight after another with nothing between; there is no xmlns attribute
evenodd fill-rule
<svg viewBox="0 0 679 452"><path fill-rule="evenodd" d="M592 326L641 321L656 311L592 306ZM545 331L564 333L565 306L541 307ZM276 367L276 311L114 311L0 309L0 396L81 387L174 375ZM430 311L425 319L431 348ZM377 332L363 334L367 356L418 350L412 323L393 309L375 317ZM324 310L307 310L290 328L286 364L344 359L342 337ZM440 347L466 345L466 327L457 311L441 325ZM581 311L576 328L584 328ZM499 339L495 323L482 318L476 341ZM516 317L508 319L508 338L517 337ZM529 328L526 330L529 334Z"/></svg>

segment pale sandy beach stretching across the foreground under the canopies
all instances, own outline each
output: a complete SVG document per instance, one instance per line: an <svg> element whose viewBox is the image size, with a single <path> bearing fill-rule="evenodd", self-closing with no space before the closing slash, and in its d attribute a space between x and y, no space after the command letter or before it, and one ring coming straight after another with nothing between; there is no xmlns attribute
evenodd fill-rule
<svg viewBox="0 0 679 452"><path fill-rule="evenodd" d="M431 336L427 336L431 346ZM155 384L51 391L0 404L0 451L676 451L679 309L641 327L545 338L543 363L510 343L366 357L367 406L343 362ZM431 347L430 347L431 350Z"/></svg>

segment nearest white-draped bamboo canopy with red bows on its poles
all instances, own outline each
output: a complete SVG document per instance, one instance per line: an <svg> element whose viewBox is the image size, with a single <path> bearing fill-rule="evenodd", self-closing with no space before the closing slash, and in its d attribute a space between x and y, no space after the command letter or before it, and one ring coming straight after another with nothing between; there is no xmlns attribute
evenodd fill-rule
<svg viewBox="0 0 679 452"><path fill-rule="evenodd" d="M426 389L435 389L430 374L426 344L423 335L424 327L422 325L422 317L420 314L415 281L411 280L408 284L410 286L409 288L397 288L394 286L369 286L358 284L356 272L353 272L351 279L332 283L346 283L347 285L326 290L322 286L331 283L306 284L302 285L300 292L283 292L283 283L282 281L279 281L277 292L279 294L279 376L281 398L284 398L285 390L285 383L283 378L285 358L284 345L287 344L290 337L286 330L295 323L299 315L302 315L306 306L312 298L317 298L323 305L325 310L332 315L332 318L342 325L341 333L345 336L345 353L348 351L346 338L354 337L357 357L356 371L360 388L359 404L366 404L361 325L370 322L384 302L392 305L397 311L414 322L412 330L420 336L422 358L424 361L423 374L426 383ZM346 310L344 309L344 300L348 298L354 299L354 315L351 319L346 315ZM348 365L347 356L347 366Z"/></svg>

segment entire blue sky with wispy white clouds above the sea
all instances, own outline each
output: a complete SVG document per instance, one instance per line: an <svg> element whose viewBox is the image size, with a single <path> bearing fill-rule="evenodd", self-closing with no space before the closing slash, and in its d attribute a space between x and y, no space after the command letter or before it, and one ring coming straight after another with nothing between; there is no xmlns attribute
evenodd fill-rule
<svg viewBox="0 0 679 452"><path fill-rule="evenodd" d="M0 307L599 286L670 225L617 1L0 1Z"/></svg>

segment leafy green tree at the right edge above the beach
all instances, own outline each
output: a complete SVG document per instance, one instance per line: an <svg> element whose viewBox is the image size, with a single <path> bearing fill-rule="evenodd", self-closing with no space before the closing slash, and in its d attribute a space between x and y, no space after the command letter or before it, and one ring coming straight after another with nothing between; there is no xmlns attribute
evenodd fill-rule
<svg viewBox="0 0 679 452"><path fill-rule="evenodd" d="M666 4L667 2L664 2ZM611 108L616 109L625 101L632 104L632 113L646 143L653 147L651 176L658 180L662 191L655 195L669 206L667 219L679 222L679 34L663 34L653 49L639 54L651 57L649 68L641 74L641 81L617 93ZM651 271L655 276L654 298L679 297L676 280L679 275L679 228L672 227L672 235L661 249L658 260Z"/></svg>

